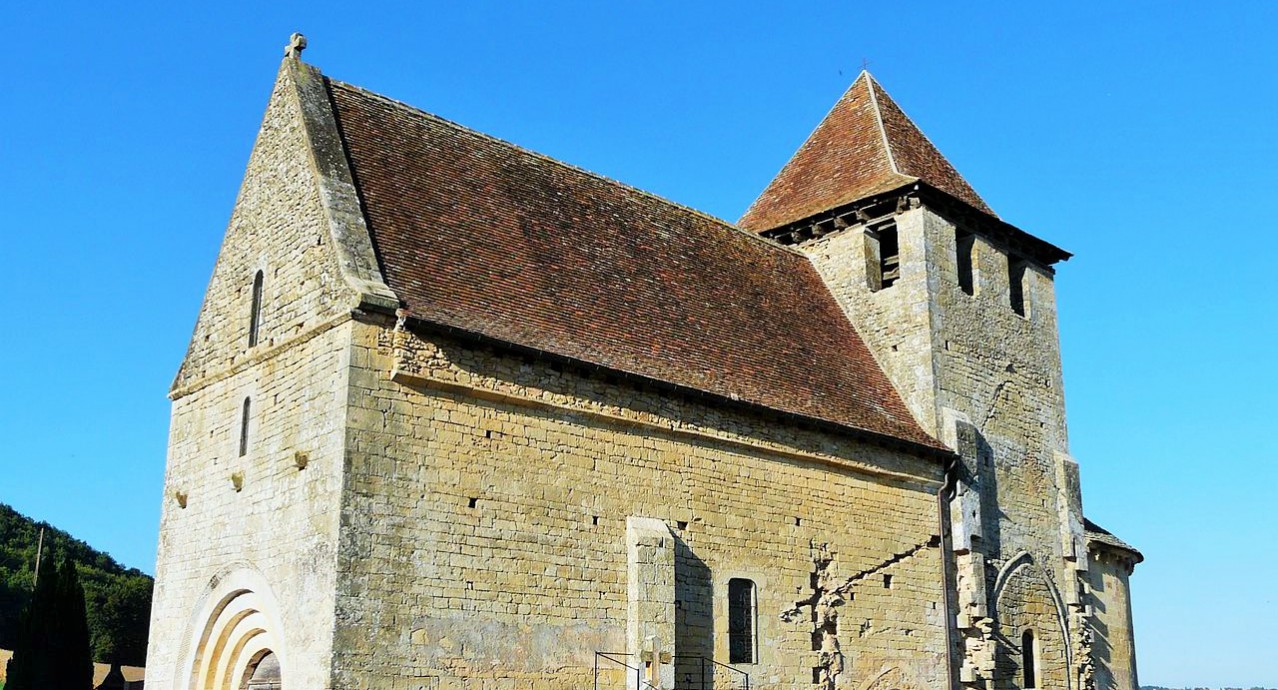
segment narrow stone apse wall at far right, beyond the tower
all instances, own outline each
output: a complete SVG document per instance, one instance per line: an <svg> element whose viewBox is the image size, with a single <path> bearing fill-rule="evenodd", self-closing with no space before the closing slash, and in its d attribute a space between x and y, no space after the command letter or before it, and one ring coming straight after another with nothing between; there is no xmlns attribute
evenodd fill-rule
<svg viewBox="0 0 1278 690"><path fill-rule="evenodd" d="M1091 649L1097 690L1136 690L1136 638L1131 622L1130 556L1102 547L1091 551Z"/></svg>

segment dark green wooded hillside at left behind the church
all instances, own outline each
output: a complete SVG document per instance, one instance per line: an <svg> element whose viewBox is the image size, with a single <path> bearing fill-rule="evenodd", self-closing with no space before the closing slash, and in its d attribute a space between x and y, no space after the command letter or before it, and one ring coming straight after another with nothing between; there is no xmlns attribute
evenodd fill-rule
<svg viewBox="0 0 1278 690"><path fill-rule="evenodd" d="M13 649L18 613L31 597L41 526L45 528L42 567L51 567L63 556L75 561L84 586L93 661L144 666L151 576L124 567L70 534L37 523L4 503L0 503L0 649Z"/></svg>

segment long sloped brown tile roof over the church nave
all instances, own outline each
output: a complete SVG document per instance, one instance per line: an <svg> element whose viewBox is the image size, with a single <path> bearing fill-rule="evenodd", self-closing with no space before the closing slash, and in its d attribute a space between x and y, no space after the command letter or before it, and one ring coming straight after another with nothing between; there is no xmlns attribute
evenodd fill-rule
<svg viewBox="0 0 1278 690"><path fill-rule="evenodd" d="M413 318L941 448L815 268L721 220L330 80Z"/></svg>

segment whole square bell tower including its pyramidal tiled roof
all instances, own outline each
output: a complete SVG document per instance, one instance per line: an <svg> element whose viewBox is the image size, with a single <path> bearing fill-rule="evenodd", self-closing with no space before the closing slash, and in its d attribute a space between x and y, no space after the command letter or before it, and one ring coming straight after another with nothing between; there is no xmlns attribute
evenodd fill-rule
<svg viewBox="0 0 1278 690"><path fill-rule="evenodd" d="M961 457L955 682L1086 687L1054 295L1070 254L1001 220L868 72L739 225L810 258L919 423Z"/></svg>

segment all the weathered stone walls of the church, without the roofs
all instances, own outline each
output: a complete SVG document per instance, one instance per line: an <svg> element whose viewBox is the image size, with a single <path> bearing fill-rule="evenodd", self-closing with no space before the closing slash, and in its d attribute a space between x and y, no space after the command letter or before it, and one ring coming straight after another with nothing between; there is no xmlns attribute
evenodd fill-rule
<svg viewBox="0 0 1278 690"><path fill-rule="evenodd" d="M584 687L613 652L691 687L748 579L753 687L943 687L950 657L1019 687L1026 630L1040 686L1134 687L1131 561L1084 534L1049 267L1017 314L978 236L966 294L955 221L918 199L888 218L891 286L860 221L797 245L955 448L942 516L918 445L394 317L322 91L285 60L174 383L150 686L238 687L270 658L289 687Z"/></svg>

